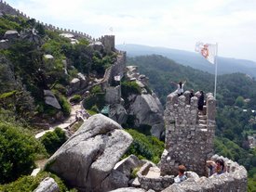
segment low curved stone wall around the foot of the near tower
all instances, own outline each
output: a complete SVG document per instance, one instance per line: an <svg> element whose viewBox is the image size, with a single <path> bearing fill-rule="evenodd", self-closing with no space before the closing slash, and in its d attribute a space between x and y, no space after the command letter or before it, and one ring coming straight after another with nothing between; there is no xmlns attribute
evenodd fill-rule
<svg viewBox="0 0 256 192"><path fill-rule="evenodd" d="M214 158L213 158L214 157ZM138 173L140 187L146 190L153 189L161 192L246 192L247 171L232 160L214 155L212 159L222 159L227 167L226 172L222 174L213 174L210 177L199 177L196 173L188 172L187 179L180 184L174 183L174 177L177 175L165 175L159 177L148 177L152 163L147 162Z"/></svg>

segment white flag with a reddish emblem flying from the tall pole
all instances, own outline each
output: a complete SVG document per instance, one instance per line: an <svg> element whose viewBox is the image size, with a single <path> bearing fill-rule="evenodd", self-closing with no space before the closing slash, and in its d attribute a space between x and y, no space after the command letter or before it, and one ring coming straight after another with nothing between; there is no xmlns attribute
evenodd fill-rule
<svg viewBox="0 0 256 192"><path fill-rule="evenodd" d="M202 42L197 42L195 44L195 51L199 52L204 58L208 59L210 63L214 64L216 57L216 48L215 44L204 44Z"/></svg>

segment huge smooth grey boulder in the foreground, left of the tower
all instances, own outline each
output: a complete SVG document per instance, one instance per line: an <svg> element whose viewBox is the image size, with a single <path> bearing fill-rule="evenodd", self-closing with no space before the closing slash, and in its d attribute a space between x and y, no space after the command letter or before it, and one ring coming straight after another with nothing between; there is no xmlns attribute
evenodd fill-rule
<svg viewBox="0 0 256 192"><path fill-rule="evenodd" d="M79 191L103 192L128 186L126 175L114 167L131 142L132 137L117 122L97 114L47 161L47 170Z"/></svg>

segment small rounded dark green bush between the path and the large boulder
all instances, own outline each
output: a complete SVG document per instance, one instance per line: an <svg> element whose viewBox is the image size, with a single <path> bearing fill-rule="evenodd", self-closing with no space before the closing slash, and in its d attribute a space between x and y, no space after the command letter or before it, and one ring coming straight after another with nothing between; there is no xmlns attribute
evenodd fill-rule
<svg viewBox="0 0 256 192"><path fill-rule="evenodd" d="M40 138L41 143L46 147L49 154L53 154L66 140L65 132L59 127L53 132L47 132Z"/></svg>

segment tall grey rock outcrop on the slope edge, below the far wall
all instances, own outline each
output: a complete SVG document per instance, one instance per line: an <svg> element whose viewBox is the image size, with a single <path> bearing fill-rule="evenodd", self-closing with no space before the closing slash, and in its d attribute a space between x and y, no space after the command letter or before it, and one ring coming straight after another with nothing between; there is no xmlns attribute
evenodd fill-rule
<svg viewBox="0 0 256 192"><path fill-rule="evenodd" d="M128 97L128 115L134 116L135 126L150 125L151 134L157 138L163 136L164 131L164 108L155 93L148 90L145 75L138 72L138 67L127 66L127 78L135 81L141 87L141 95Z"/></svg>

